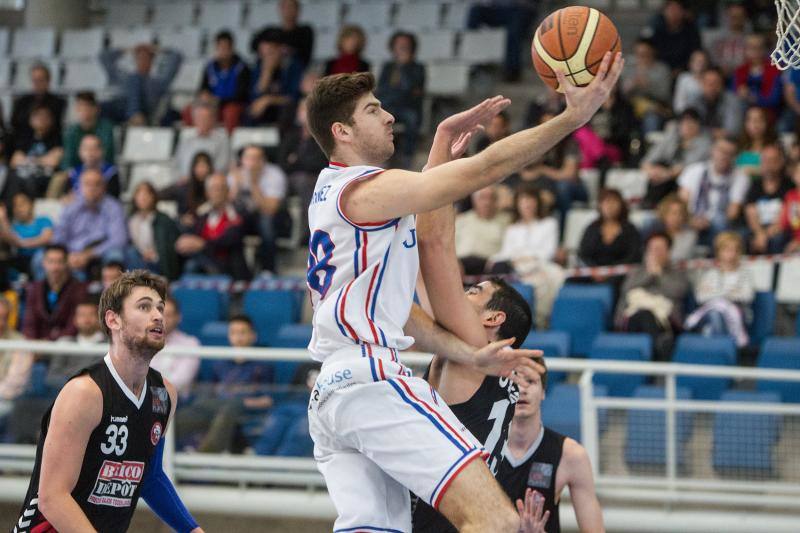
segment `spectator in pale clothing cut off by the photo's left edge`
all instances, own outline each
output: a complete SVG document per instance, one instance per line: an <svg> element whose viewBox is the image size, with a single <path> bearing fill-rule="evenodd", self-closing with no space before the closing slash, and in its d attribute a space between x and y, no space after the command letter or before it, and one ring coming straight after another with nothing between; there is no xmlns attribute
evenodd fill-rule
<svg viewBox="0 0 800 533"><path fill-rule="evenodd" d="M0 296L0 339L7 341L22 340L22 335L9 325L11 315L11 302ZM0 428L8 414L14 407L14 401L19 398L31 377L33 354L22 350L0 351ZM3 431L0 430L0 435Z"/></svg>

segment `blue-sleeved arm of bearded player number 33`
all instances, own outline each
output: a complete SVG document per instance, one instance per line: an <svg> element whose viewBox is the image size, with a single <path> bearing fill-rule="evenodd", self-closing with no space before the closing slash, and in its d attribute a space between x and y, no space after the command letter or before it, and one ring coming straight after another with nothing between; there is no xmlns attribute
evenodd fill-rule
<svg viewBox="0 0 800 533"><path fill-rule="evenodd" d="M164 386L169 393L171 404L169 419L173 420L175 417L175 408L178 405L178 394L175 391L175 386L166 379L164 380ZM164 434L166 434L166 428L164 428ZM158 446L156 446L153 452L150 469L142 481L142 499L147 502L150 509L152 509L165 524L175 531L179 533L203 533L203 530L197 525L191 513L183 505L180 496L178 496L178 493L175 491L172 481L167 477L167 474L162 468L165 438L166 437L162 436L161 440L158 442Z"/></svg>

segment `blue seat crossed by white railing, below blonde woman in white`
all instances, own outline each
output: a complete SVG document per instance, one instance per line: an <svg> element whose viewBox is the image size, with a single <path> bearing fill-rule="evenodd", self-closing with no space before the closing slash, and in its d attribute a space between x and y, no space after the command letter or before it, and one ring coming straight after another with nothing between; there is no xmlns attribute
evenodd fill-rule
<svg viewBox="0 0 800 533"><path fill-rule="evenodd" d="M684 333L678 337L672 361L693 365L732 366L736 364L736 343L732 337L704 337ZM679 376L678 386L688 387L698 400L717 400L728 388L730 378Z"/></svg>

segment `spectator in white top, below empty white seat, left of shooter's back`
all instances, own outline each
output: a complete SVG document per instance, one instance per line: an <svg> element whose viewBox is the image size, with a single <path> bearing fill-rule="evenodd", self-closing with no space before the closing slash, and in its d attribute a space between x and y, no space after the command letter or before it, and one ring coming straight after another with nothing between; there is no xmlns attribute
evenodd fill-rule
<svg viewBox="0 0 800 533"><path fill-rule="evenodd" d="M257 227L261 237L262 268L275 270L275 216L286 197L286 174L267 161L261 146L242 148L241 164L228 176L230 195L236 209Z"/></svg>

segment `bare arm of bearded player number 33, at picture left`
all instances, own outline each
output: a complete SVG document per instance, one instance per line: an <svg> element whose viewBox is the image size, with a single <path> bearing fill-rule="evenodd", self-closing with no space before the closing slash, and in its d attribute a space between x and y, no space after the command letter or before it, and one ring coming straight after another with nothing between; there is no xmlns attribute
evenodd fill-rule
<svg viewBox="0 0 800 533"><path fill-rule="evenodd" d="M54 530L95 531L72 497L84 450L103 416L103 393L88 376L69 381L56 398L42 450L39 511Z"/></svg>

